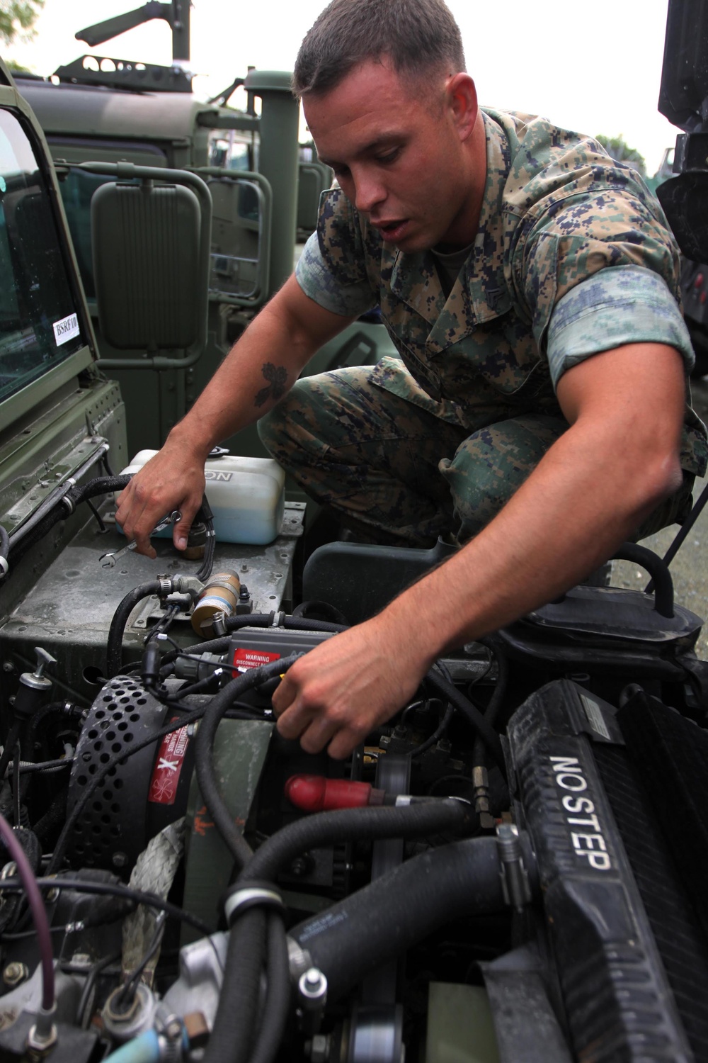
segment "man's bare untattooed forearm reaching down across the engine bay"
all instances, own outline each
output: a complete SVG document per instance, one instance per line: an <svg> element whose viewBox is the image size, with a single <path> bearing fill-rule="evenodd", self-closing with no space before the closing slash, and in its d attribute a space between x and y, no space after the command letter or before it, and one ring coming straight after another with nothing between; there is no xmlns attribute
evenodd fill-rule
<svg viewBox="0 0 708 1063"><path fill-rule="evenodd" d="M618 458L611 448L603 456L591 434L570 429L476 539L392 603L386 623L408 627L425 615L417 652L432 663L552 601L679 486L677 462L657 465Z"/></svg>

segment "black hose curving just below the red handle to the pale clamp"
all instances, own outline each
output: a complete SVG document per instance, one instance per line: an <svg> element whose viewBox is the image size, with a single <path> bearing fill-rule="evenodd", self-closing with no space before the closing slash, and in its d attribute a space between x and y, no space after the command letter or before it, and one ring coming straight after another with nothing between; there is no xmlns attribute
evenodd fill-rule
<svg viewBox="0 0 708 1063"><path fill-rule="evenodd" d="M443 830L462 828L472 814L469 805L454 798L400 808L379 806L317 812L282 827L263 842L239 876L239 881L264 879L272 882L283 867L307 849L362 839L426 838Z"/></svg>

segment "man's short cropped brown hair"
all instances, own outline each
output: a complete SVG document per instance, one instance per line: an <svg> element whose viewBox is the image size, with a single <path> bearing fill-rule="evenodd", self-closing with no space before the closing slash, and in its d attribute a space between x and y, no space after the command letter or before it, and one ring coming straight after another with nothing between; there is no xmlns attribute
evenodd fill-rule
<svg viewBox="0 0 708 1063"><path fill-rule="evenodd" d="M443 0L332 0L300 45L293 92L327 92L382 55L404 75L466 69L460 29Z"/></svg>

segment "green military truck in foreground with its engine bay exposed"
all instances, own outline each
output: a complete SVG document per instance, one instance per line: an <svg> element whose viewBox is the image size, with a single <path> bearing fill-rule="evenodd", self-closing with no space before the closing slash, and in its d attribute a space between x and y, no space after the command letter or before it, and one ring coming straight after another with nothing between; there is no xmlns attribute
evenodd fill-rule
<svg viewBox="0 0 708 1063"><path fill-rule="evenodd" d="M204 556L125 549L125 402L2 64L0 146L2 1059L706 1059L708 675L667 562L627 544L654 593L576 588L450 654L346 762L280 739L294 655L443 547L309 552L277 471L214 455ZM189 357L212 196L108 165L80 171L115 179L102 335ZM260 542L218 530L231 473L273 482Z"/></svg>

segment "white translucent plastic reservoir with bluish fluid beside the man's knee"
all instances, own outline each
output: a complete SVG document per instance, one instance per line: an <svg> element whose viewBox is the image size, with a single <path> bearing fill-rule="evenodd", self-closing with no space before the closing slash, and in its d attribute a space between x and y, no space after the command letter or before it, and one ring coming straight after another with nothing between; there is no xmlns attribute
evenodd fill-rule
<svg viewBox="0 0 708 1063"><path fill-rule="evenodd" d="M138 472L155 454L140 451L122 474ZM223 454L207 459L205 475L218 542L273 542L282 524L286 486L286 473L274 458ZM158 535L171 537L172 528Z"/></svg>

